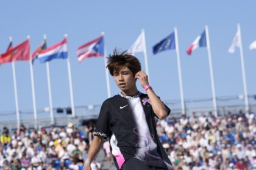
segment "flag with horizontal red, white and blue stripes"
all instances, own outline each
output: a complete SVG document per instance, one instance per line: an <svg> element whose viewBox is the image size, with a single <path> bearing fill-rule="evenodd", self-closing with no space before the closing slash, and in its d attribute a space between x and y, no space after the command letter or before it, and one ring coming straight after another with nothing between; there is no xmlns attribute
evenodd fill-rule
<svg viewBox="0 0 256 170"><path fill-rule="evenodd" d="M38 52L38 60L40 63L51 61L55 58L68 58L68 41L64 38L61 42Z"/></svg>

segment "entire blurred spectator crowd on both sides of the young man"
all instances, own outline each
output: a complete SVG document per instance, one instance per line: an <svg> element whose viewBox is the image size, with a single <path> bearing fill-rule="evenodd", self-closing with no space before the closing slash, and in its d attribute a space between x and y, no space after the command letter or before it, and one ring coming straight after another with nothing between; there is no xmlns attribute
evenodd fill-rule
<svg viewBox="0 0 256 170"><path fill-rule="evenodd" d="M171 115L169 116L171 117ZM251 112L215 117L212 112L157 120L157 133L174 169L256 169L256 120ZM20 126L0 137L0 169L83 169L95 124L77 128ZM108 141L102 148L110 166ZM97 158L93 170L101 169Z"/></svg>

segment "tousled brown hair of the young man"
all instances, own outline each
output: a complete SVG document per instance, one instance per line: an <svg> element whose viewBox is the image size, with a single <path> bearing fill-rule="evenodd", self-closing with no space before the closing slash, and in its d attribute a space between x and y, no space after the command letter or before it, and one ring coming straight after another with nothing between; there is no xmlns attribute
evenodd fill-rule
<svg viewBox="0 0 256 170"><path fill-rule="evenodd" d="M113 55L108 56L107 68L113 76L115 71L119 71L121 67L126 66L135 76L141 70L140 61L135 56L127 53L127 50L120 52L115 49Z"/></svg>

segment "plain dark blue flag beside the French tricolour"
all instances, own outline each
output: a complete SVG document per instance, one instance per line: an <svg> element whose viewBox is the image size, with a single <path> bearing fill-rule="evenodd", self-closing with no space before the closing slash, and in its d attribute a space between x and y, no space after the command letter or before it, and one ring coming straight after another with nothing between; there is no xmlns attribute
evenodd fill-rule
<svg viewBox="0 0 256 170"><path fill-rule="evenodd" d="M172 49L176 49L174 32L172 32L162 41L155 44L155 46L153 47L153 53L157 54L159 52L163 52L165 50L172 50Z"/></svg>

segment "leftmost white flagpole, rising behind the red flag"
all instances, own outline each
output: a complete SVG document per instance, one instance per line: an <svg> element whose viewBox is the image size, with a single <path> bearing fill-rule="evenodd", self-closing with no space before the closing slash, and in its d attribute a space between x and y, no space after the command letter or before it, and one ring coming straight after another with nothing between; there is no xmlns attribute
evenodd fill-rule
<svg viewBox="0 0 256 170"><path fill-rule="evenodd" d="M12 42L12 36L10 36L10 42ZM19 129L20 128L20 110L19 110L19 103L18 103L15 63L13 61L12 61L12 75L13 75L13 87L14 87L14 95L15 95L17 129Z"/></svg>

